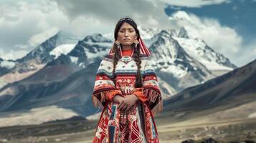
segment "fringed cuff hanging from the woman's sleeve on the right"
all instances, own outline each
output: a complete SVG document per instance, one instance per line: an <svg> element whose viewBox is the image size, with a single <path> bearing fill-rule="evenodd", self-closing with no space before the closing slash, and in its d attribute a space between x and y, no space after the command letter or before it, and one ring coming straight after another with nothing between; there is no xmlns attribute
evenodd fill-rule
<svg viewBox="0 0 256 143"><path fill-rule="evenodd" d="M163 100L161 94L153 89L143 89L143 94L148 97L148 102L156 103L156 106L151 109L153 115L158 114L163 109Z"/></svg>

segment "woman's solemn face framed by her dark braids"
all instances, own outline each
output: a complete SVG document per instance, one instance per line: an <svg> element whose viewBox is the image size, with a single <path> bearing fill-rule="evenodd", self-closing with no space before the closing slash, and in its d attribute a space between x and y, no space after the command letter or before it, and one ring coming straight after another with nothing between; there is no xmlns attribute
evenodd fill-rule
<svg viewBox="0 0 256 143"><path fill-rule="evenodd" d="M137 39L137 34L133 26L128 23L123 23L118 31L118 41L124 46L133 44Z"/></svg>

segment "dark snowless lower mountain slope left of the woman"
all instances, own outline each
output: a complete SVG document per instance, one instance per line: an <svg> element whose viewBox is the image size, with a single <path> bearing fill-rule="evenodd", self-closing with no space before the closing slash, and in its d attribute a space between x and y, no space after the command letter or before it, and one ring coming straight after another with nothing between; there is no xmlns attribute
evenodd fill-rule
<svg viewBox="0 0 256 143"><path fill-rule="evenodd" d="M100 63L100 59L95 63ZM97 109L92 108L93 102L91 101L95 80L93 75L98 69L98 64L95 63L68 77L59 75L62 72L69 72L66 71L66 66L61 64L52 65L54 66L52 68L47 66L22 81L8 84L0 89L0 120L8 119L10 125L27 124L27 121L31 121L30 124L38 124L54 119L71 118L71 115L77 116L78 114L81 117L87 117L95 113ZM57 108L56 111L63 112L57 116L50 114L48 111L52 109L52 106ZM32 117L29 120L29 114L34 114L32 111L37 109L40 109L38 111L42 113L38 115L38 118L47 116L47 119Z"/></svg>

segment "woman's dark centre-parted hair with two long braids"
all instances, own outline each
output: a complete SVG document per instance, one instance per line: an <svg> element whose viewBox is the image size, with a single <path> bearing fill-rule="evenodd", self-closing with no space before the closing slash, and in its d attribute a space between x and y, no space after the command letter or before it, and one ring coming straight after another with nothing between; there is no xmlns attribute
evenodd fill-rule
<svg viewBox="0 0 256 143"><path fill-rule="evenodd" d="M115 40L118 39L118 31L119 31L120 27L123 25L123 23L128 23L131 26L133 26L133 28L136 31L137 40L138 40L140 38L140 32L137 29L137 24L135 23L135 21L133 21L133 19L128 18L128 17L120 19L118 21L118 23L115 25L115 34L114 34ZM120 46L122 48L122 44L120 44ZM135 44L134 43L131 46L132 46L133 49L135 49ZM118 51L118 45L117 44L114 43L113 47L114 47L114 49L113 49L114 52ZM113 56L113 65L114 65L113 74L114 74L114 76L115 76L115 65L118 63L118 60L120 58L121 58L120 52L115 52L115 54ZM137 74L136 74L136 88L142 87L141 54L140 54L140 45L139 44L138 44L136 50L133 52L133 57L132 58L134 59L134 61L136 61L136 65L138 66L138 70L137 70Z"/></svg>

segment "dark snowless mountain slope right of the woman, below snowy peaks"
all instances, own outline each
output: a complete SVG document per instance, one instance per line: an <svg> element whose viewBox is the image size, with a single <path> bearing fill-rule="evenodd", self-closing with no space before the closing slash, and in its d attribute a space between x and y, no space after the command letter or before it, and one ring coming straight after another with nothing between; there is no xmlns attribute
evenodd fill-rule
<svg viewBox="0 0 256 143"><path fill-rule="evenodd" d="M255 118L255 74L256 59L204 84L184 89L165 100L161 116L193 118L200 122ZM182 117L175 116L177 114Z"/></svg>

